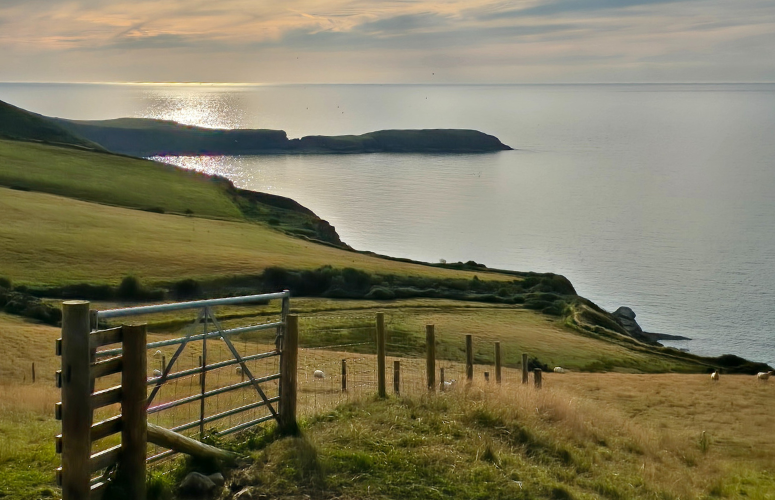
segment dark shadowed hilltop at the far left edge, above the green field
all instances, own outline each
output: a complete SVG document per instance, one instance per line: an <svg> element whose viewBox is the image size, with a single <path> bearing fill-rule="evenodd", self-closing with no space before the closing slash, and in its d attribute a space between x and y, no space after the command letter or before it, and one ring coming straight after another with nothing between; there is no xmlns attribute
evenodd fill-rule
<svg viewBox="0 0 775 500"><path fill-rule="evenodd" d="M0 137L69 144L88 149L102 147L66 130L53 120L0 101Z"/></svg>

